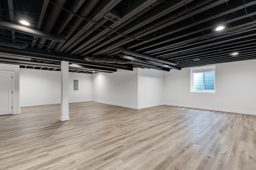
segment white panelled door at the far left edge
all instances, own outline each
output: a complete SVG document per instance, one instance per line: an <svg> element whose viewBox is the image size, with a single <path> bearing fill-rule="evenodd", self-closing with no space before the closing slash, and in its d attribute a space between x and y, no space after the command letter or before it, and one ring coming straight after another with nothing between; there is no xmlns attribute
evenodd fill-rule
<svg viewBox="0 0 256 170"><path fill-rule="evenodd" d="M12 73L0 72L0 115L12 114Z"/></svg>

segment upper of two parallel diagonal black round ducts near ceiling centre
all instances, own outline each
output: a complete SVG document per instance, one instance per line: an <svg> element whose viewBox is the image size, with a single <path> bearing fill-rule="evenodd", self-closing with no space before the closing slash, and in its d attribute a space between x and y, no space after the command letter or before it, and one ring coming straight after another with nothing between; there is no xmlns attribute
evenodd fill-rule
<svg viewBox="0 0 256 170"><path fill-rule="evenodd" d="M152 61L158 61L160 63L170 64L170 65L173 65L173 66L176 65L176 63L166 61L166 60L163 60L163 59L156 59L155 57L152 57L150 55L146 55L146 54L143 54L143 53L138 53L136 51L130 51L128 49L125 49L124 47L120 47L119 49L124 54L133 55L133 56L136 56L136 57L140 57L140 58L148 59L148 60L152 60Z"/></svg>

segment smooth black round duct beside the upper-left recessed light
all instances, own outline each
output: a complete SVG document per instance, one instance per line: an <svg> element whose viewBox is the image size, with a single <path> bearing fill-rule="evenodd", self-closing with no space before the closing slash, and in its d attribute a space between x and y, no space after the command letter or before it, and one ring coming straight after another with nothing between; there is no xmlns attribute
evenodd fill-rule
<svg viewBox="0 0 256 170"><path fill-rule="evenodd" d="M65 39L64 36L45 33L43 31L39 31L39 30L36 30L36 29L32 29L32 28L29 28L29 27L25 27L25 26L22 26L22 25L18 25L16 23L7 22L7 21L3 21L3 20L0 20L0 28L8 29L8 30L11 30L11 31L16 31L16 32L24 33L24 34L28 34L28 35L33 35L33 36L36 36L36 37L49 39L49 40L57 41L57 42L64 41L64 39Z"/></svg>

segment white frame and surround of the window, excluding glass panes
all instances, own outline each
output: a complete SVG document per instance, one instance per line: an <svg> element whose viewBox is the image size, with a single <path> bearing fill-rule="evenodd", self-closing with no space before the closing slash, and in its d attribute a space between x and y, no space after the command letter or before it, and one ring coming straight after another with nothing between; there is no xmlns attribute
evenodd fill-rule
<svg viewBox="0 0 256 170"><path fill-rule="evenodd" d="M208 73L214 72L214 90L194 90L194 73ZM216 73L215 66L197 67L190 68L190 92L200 92L200 93L215 93L216 91Z"/></svg>

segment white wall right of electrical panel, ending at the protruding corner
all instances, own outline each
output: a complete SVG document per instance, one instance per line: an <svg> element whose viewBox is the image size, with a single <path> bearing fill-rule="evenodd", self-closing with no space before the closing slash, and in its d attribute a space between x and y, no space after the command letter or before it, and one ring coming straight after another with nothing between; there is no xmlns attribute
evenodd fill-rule
<svg viewBox="0 0 256 170"><path fill-rule="evenodd" d="M137 109L138 69L93 74L92 100Z"/></svg>

